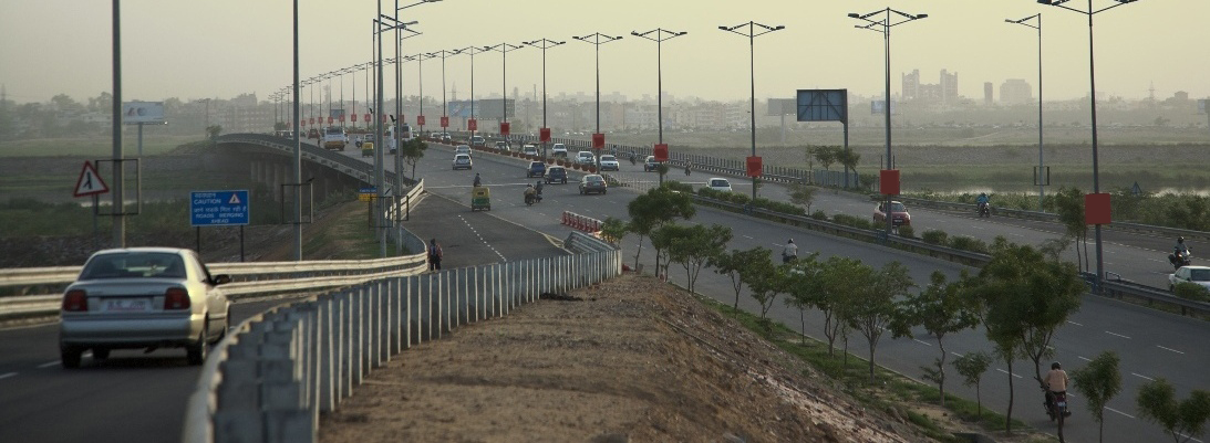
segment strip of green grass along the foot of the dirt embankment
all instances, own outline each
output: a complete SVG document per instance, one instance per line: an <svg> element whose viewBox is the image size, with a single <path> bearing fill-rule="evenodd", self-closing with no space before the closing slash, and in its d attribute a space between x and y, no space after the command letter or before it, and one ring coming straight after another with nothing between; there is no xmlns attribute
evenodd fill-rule
<svg viewBox="0 0 1210 443"><path fill-rule="evenodd" d="M707 307L718 310L727 317L739 322L749 331L760 334L770 343L774 344L786 354L809 363L820 373L828 375L841 390L853 396L859 402L871 408L887 412L889 415L901 416L914 424L921 433L941 442L957 442L952 431L946 430L935 420L929 418L912 403L939 404L940 391L935 386L921 384L914 379L904 377L898 372L875 366L875 384L870 384L869 362L860 356L846 352L842 339L837 338L835 354L829 355L828 344L805 337L801 333L786 327L783 323L761 321L750 313L737 310L731 305L720 303L713 298L697 297ZM864 339L860 343L864 345ZM980 427L987 435L999 433L1004 430L1004 415L983 408L981 414L974 401L969 401L953 395L945 396L945 409L956 418ZM1014 433L1036 432L1025 422L1013 420ZM1050 441L1045 436L1031 437L1032 441Z"/></svg>

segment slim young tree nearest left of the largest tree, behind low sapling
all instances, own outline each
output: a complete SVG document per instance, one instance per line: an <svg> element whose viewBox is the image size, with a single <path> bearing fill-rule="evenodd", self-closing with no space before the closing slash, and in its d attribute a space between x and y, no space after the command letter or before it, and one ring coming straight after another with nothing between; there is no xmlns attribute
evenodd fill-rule
<svg viewBox="0 0 1210 443"><path fill-rule="evenodd" d="M963 270L963 279L967 279ZM934 270L929 276L928 288L908 297L899 304L904 311L899 321L892 325L894 337L911 337L911 327L921 325L924 331L937 338L940 351L933 366L923 366L924 378L937 383L941 392L941 406L945 406L945 336L951 332L968 330L979 325L979 316L970 297L960 282L946 282L945 274Z"/></svg>

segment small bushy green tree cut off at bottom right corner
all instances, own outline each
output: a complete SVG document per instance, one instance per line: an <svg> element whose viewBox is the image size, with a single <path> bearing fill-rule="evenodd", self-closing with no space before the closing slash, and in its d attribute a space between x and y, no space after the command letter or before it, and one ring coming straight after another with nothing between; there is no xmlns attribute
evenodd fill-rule
<svg viewBox="0 0 1210 443"><path fill-rule="evenodd" d="M1175 443L1202 436L1210 421L1210 391L1193 390L1188 398L1179 402L1172 384L1163 378L1139 387L1135 402L1143 420L1163 427Z"/></svg>

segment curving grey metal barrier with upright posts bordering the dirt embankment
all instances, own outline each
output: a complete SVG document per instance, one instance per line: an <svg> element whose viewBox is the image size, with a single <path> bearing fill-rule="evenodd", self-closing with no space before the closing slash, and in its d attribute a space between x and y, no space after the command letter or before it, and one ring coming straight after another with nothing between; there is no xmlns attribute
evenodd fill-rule
<svg viewBox="0 0 1210 443"><path fill-rule="evenodd" d="M578 232L565 244L576 253L375 279L244 321L206 361L182 441L315 442L319 413L411 345L621 275L612 245Z"/></svg>

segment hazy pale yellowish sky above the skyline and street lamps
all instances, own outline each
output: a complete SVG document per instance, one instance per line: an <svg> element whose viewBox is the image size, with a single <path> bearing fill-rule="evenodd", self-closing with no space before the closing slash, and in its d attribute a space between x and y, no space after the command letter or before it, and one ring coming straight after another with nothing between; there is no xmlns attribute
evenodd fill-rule
<svg viewBox="0 0 1210 443"><path fill-rule="evenodd" d="M415 0L405 0L408 5ZM375 0L299 0L302 78L369 60ZM1093 0L1094 7L1113 0ZM122 98L260 99L292 81L289 0L123 0ZM390 14L394 1L384 1ZM1087 0L1067 5L1088 7ZM981 99L984 82L996 97L1006 78L1025 78L1037 94L1037 34L1004 23L1043 13L1044 98L1087 95L1088 21L1084 14L1035 0L444 0L403 10L424 35L403 40L403 53L520 43L547 37L566 45L547 52L552 95L594 92L594 47L572 35L624 35L600 46L601 92L629 98L656 94L656 43L630 35L662 27L688 31L663 43L667 93L705 99L749 97L748 39L719 30L755 21L785 25L756 37L756 97L793 97L800 88L883 91L881 34L854 29L848 12L887 6L928 13L892 29L892 91L900 74L920 69L937 83L941 69L958 74L960 93ZM111 2L100 0L0 0L0 83L17 103L46 101L57 93L77 100L113 89ZM1177 91L1210 95L1208 0L1140 0L1095 16L1097 91L1129 99ZM386 39L390 42L390 36ZM393 57L387 43L386 57ZM501 54L474 57L476 94L496 93ZM404 64L404 92L416 91L415 63ZM392 71L393 74L393 71ZM440 62L425 62L425 94L440 97ZM541 51L508 53L508 89L541 92ZM465 98L469 58L446 60L449 87ZM351 78L345 76L345 93ZM334 89L336 82L333 83ZM357 78L358 101L364 76ZM390 89L388 89L390 91ZM339 89L336 89L339 93Z"/></svg>

